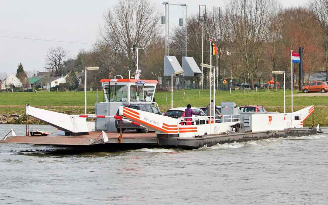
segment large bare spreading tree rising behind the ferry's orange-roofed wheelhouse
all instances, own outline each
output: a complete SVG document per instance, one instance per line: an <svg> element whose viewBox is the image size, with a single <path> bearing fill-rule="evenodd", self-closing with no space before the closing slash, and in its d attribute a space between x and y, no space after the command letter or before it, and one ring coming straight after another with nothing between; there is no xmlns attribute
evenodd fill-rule
<svg viewBox="0 0 328 205"><path fill-rule="evenodd" d="M104 14L105 26L101 36L115 60L120 62L121 74L132 68L133 44L146 48L159 34L159 14L156 4L149 0L119 0Z"/></svg>

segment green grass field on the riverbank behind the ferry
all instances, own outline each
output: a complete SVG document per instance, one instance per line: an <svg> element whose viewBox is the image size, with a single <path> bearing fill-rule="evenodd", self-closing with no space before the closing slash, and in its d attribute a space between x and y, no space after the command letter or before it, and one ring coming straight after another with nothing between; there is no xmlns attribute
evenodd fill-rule
<svg viewBox="0 0 328 205"><path fill-rule="evenodd" d="M185 94L184 94L185 93ZM206 106L209 102L209 90L180 90L174 91L173 106L182 107L191 104L194 107ZM301 92L294 92L300 94ZM183 99L183 95L185 96ZM156 92L155 99L161 111L171 108L171 93ZM258 92L243 91L216 91L217 105L222 101L233 101L237 105L263 105L268 111L283 112L283 91L259 90ZM88 113L94 113L96 92L87 92ZM98 92L98 102L103 102L103 92ZM0 93L0 114L25 113L25 104L42 109L67 114L84 112L84 92L16 92ZM291 111L291 91L286 91L286 112ZM328 126L328 97L327 96L294 96L294 111L315 105L314 124ZM305 126L312 126L312 117L305 121Z"/></svg>

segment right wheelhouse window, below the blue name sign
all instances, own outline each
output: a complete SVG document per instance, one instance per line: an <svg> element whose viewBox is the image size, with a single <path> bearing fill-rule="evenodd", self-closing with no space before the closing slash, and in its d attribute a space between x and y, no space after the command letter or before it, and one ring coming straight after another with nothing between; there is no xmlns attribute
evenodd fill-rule
<svg viewBox="0 0 328 205"><path fill-rule="evenodd" d="M130 87L131 102L151 102L154 86L132 85Z"/></svg>

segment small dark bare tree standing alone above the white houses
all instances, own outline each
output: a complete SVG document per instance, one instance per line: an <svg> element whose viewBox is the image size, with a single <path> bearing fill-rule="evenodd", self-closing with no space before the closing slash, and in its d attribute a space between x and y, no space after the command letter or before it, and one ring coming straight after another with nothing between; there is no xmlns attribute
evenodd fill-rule
<svg viewBox="0 0 328 205"><path fill-rule="evenodd" d="M52 76L59 76L61 69L63 68L64 59L67 56L67 52L63 47L51 47L47 53L46 69L51 71Z"/></svg>

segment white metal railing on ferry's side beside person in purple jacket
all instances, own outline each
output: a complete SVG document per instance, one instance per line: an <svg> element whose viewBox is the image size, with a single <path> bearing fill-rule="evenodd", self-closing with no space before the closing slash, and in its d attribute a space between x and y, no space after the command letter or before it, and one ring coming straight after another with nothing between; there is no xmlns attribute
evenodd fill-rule
<svg viewBox="0 0 328 205"><path fill-rule="evenodd" d="M187 119L191 119L191 121L187 121ZM178 124L186 125L187 124L186 122L189 122L193 125L199 125L199 124L209 124L209 123L237 122L239 120L240 120L239 114L179 117Z"/></svg>

